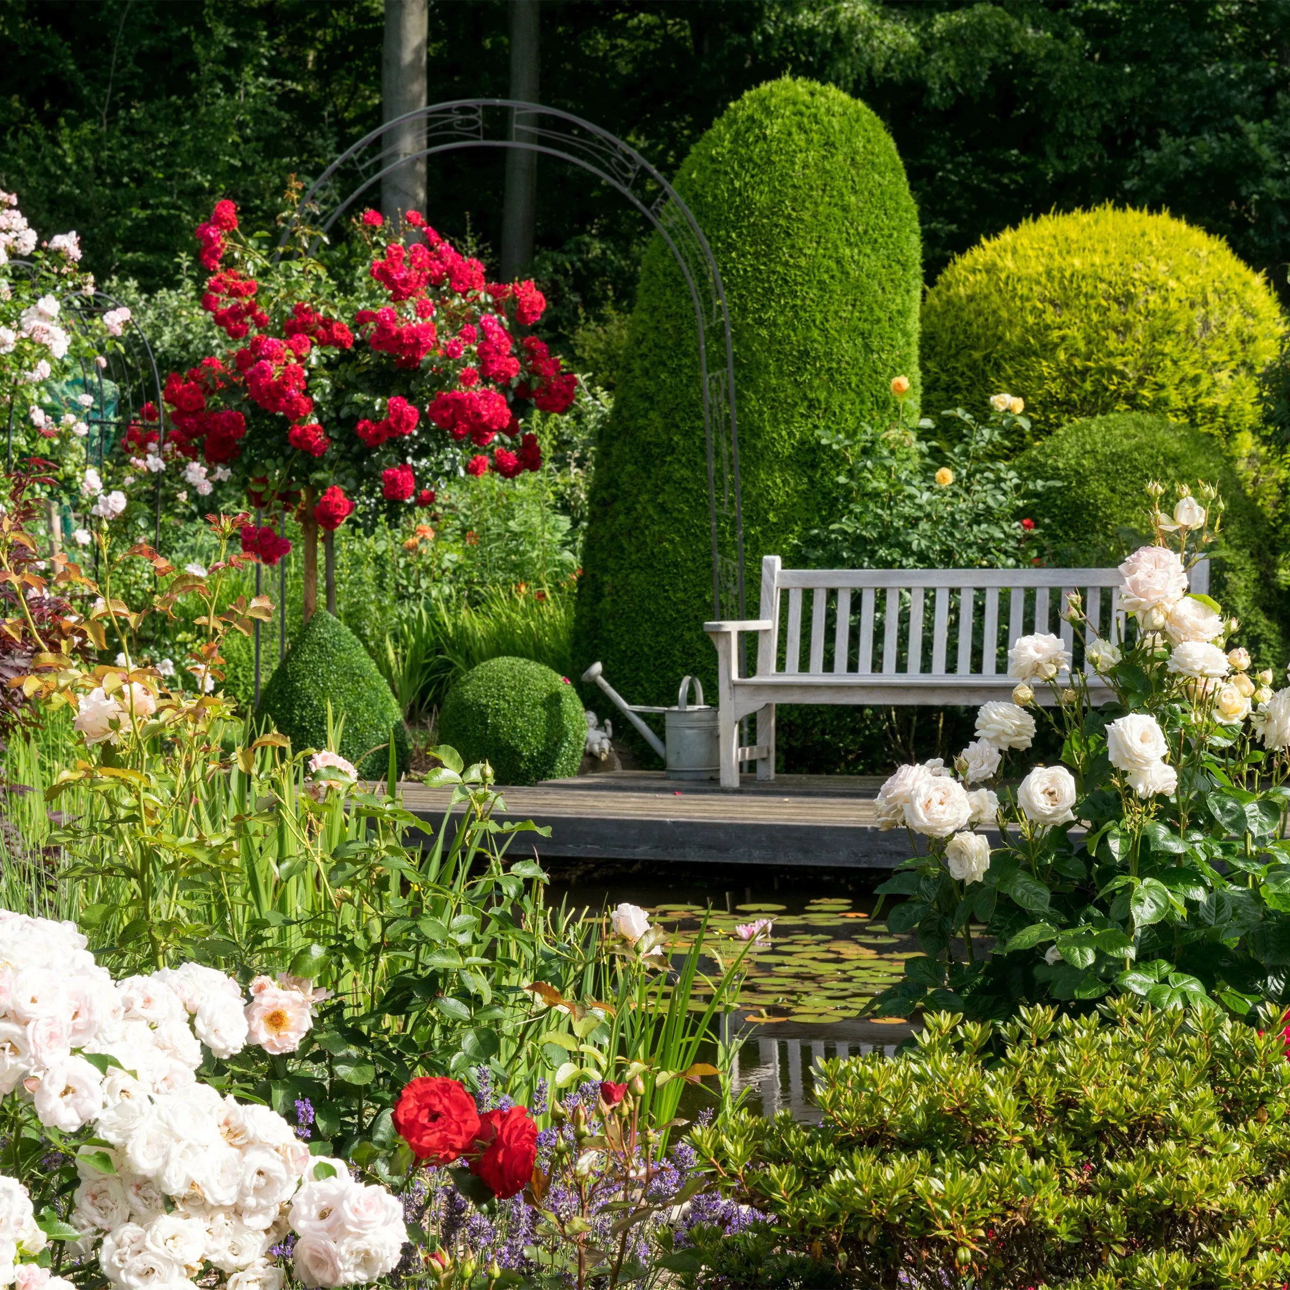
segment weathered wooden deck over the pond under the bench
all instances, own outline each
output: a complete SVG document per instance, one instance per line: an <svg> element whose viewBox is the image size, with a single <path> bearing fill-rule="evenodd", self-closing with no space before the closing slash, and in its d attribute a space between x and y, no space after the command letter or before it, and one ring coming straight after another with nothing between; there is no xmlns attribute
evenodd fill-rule
<svg viewBox="0 0 1290 1290"><path fill-rule="evenodd" d="M516 849L542 859L827 866L888 869L909 854L904 831L880 832L873 797L881 778L782 775L738 789L680 782L662 771L620 770L503 788L507 815L551 828ZM449 791L402 786L404 805L436 824Z"/></svg>

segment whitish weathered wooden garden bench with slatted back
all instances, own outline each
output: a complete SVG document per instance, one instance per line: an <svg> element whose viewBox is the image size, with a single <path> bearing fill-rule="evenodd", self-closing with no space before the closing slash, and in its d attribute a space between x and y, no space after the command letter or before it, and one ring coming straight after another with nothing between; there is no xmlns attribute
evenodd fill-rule
<svg viewBox="0 0 1290 1290"><path fill-rule="evenodd" d="M1121 582L1118 569L784 569L779 556L766 556L761 617L703 624L717 650L722 787L739 787L739 765L747 761L756 761L759 779L775 778L775 704L1005 699L1017 685L1007 675L1007 649L1029 632L1060 635L1089 679L1090 695L1104 697L1107 686L1060 614L1077 591L1093 630L1121 640ZM1209 591L1207 561L1192 569L1191 590ZM751 676L739 675L742 632L757 635ZM1051 700L1045 686L1036 688L1036 698ZM740 747L739 724L752 713L757 742Z"/></svg>

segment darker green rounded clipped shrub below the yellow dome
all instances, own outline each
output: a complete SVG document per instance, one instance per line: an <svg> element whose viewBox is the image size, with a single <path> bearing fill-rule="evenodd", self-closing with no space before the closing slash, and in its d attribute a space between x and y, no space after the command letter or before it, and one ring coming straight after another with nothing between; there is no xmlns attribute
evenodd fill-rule
<svg viewBox="0 0 1290 1290"><path fill-rule="evenodd" d="M1148 480L1166 486L1216 484L1227 510L1223 542L1211 557L1214 597L1240 619L1237 641L1260 667L1281 673L1287 605L1277 579L1275 535L1213 439L1167 417L1120 413L1072 422L1014 464L1023 476L1064 485L1032 503L1049 561L1062 568L1116 565L1151 541ZM1161 501L1173 507L1173 493Z"/></svg>

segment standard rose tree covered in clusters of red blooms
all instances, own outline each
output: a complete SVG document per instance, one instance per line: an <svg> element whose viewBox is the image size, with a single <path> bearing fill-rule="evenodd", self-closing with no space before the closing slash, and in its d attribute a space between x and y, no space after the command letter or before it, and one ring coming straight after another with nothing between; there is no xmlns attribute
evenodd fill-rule
<svg viewBox="0 0 1290 1290"><path fill-rule="evenodd" d="M444 477L537 470L524 417L566 410L577 378L525 334L546 307L533 283L489 283L418 212L388 228L369 210L355 221L368 273L344 292L315 254L325 239L299 218L294 187L288 197L280 254L241 235L231 201L197 227L210 271L201 303L230 343L172 373L169 427L132 427L125 446L184 494L226 482L245 494L262 522L244 548L268 562L284 553L275 517L294 515L308 617L320 526L333 533L356 501L428 506Z"/></svg>

